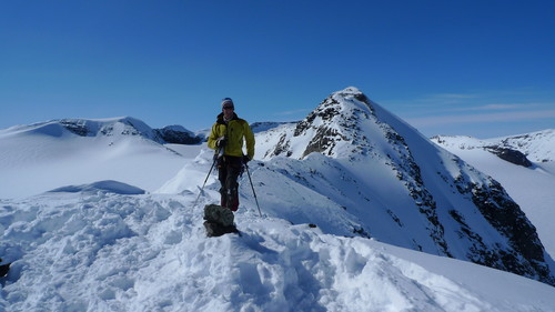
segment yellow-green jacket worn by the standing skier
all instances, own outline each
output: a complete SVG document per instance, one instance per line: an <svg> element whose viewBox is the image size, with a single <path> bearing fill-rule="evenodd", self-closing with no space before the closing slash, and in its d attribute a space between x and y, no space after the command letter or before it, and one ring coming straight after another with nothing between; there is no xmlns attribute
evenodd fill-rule
<svg viewBox="0 0 555 312"><path fill-rule="evenodd" d="M220 137L228 138L228 143L223 152L224 155L242 157L244 138L246 141L246 155L250 159L254 158L254 134L249 123L240 119L235 113L233 113L232 120L228 123L223 121L223 113L218 115L218 121L212 125L212 131L210 132L208 147L213 150L218 149L215 142Z"/></svg>

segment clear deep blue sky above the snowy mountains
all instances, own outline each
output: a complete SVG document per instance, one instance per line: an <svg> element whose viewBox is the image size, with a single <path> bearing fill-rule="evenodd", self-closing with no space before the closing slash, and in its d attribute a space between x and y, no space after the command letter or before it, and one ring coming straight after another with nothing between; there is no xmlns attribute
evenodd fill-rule
<svg viewBox="0 0 555 312"><path fill-rule="evenodd" d="M555 1L0 0L0 129L303 119L354 85L426 135L555 128Z"/></svg>

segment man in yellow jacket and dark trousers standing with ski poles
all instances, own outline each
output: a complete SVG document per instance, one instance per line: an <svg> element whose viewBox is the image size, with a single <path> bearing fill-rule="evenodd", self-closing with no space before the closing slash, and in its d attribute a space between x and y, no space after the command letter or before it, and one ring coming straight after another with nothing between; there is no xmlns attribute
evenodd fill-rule
<svg viewBox="0 0 555 312"><path fill-rule="evenodd" d="M243 154L246 142L246 154ZM219 151L218 179L220 180L220 205L236 211L239 208L238 178L243 163L254 157L254 134L249 123L235 113L233 100L222 100L222 112L212 125L208 139L210 149Z"/></svg>

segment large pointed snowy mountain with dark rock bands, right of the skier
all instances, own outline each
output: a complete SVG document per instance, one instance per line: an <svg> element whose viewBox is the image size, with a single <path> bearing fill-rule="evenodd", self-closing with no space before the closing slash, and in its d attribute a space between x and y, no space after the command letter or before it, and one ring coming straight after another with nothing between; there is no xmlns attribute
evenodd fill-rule
<svg viewBox="0 0 555 312"><path fill-rule="evenodd" d="M266 168L294 182L291 190L272 183L281 189L273 191L279 209L302 187L343 209L349 221L341 227L352 232L555 281L534 225L497 181L355 88L333 93L296 125L274 128L259 141L258 154L271 160ZM302 222L314 222L311 200L306 210L291 207L305 214L297 218Z"/></svg>

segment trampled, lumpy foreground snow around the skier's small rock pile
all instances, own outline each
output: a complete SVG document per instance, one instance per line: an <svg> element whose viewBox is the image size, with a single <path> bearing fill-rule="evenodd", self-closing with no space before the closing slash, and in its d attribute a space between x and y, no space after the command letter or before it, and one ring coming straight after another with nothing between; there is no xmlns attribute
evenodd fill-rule
<svg viewBox="0 0 555 312"><path fill-rule="evenodd" d="M4 311L551 311L542 283L242 208L205 238L193 194L2 200ZM203 202L215 201L209 191ZM249 205L253 204L248 198ZM411 259L417 259L416 264ZM460 275L465 275L461 278ZM463 280L464 282L456 281ZM498 291L492 292L484 286Z"/></svg>

